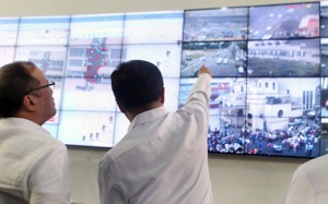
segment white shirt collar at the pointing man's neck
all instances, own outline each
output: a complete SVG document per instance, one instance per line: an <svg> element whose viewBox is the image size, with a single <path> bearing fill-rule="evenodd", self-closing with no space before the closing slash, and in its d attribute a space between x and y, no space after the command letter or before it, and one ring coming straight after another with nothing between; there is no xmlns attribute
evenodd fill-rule
<svg viewBox="0 0 328 204"><path fill-rule="evenodd" d="M164 106L141 112L134 117L134 119L129 125L128 131L132 130L134 127L138 127L142 123L147 123L157 118L162 118L167 113L168 111L166 110L166 108L164 108Z"/></svg>

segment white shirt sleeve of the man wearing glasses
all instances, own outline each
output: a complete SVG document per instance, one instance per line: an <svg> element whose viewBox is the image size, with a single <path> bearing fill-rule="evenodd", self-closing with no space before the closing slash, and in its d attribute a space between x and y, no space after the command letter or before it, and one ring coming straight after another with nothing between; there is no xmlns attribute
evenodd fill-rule
<svg viewBox="0 0 328 204"><path fill-rule="evenodd" d="M67 147L57 143L47 148L31 169L30 203L69 204L71 183Z"/></svg>

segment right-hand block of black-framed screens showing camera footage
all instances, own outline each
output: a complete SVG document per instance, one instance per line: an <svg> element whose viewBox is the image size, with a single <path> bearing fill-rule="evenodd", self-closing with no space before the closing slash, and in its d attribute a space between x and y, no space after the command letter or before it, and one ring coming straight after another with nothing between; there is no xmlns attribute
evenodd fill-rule
<svg viewBox="0 0 328 204"><path fill-rule="evenodd" d="M208 65L209 152L326 154L326 10L311 2L185 11L179 104Z"/></svg>

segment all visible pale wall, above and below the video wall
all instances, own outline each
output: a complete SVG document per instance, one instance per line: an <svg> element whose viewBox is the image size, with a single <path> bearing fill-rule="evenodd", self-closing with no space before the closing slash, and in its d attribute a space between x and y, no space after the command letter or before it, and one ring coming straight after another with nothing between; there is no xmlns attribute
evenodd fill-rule
<svg viewBox="0 0 328 204"><path fill-rule="evenodd" d="M309 2L311 0L306 1ZM0 16L94 14L176 9L202 9L302 2L297 0L9 0ZM107 149L69 147L74 203L98 203L97 163ZM306 161L297 158L210 155L215 204L277 204L292 172Z"/></svg>

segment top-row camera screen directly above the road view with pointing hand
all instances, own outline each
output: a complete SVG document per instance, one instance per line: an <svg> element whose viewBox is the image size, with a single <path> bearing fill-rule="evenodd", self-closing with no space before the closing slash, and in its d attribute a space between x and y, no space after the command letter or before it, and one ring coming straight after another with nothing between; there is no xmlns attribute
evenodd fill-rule
<svg viewBox="0 0 328 204"><path fill-rule="evenodd" d="M247 39L248 8L185 11L184 41Z"/></svg>

